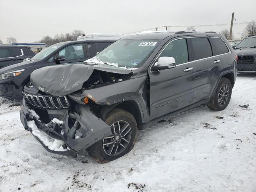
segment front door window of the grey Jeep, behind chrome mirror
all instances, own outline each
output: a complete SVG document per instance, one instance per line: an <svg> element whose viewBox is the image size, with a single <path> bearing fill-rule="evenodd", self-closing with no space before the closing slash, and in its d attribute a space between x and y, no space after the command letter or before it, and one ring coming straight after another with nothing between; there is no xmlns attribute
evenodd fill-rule
<svg viewBox="0 0 256 192"><path fill-rule="evenodd" d="M188 62L186 39L178 39L170 42L159 57L173 57L176 65Z"/></svg>

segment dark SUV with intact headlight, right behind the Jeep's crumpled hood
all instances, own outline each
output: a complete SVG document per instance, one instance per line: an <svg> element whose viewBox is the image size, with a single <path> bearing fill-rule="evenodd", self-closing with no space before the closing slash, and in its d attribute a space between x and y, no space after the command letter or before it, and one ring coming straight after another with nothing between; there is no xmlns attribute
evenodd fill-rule
<svg viewBox="0 0 256 192"><path fill-rule="evenodd" d="M0 97L22 98L23 87L29 83L29 76L34 70L54 64L85 61L113 42L115 40L61 42L49 46L21 63L1 68Z"/></svg>

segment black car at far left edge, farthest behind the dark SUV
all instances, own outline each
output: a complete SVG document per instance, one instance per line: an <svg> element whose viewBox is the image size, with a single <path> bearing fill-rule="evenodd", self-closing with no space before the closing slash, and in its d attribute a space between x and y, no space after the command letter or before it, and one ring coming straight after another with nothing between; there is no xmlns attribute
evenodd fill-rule
<svg viewBox="0 0 256 192"><path fill-rule="evenodd" d="M36 53L30 46L0 45L0 68L32 58Z"/></svg>

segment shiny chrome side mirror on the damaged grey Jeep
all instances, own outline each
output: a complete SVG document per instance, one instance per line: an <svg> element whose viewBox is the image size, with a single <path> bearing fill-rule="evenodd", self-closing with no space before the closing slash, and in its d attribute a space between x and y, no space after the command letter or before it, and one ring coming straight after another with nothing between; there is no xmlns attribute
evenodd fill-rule
<svg viewBox="0 0 256 192"><path fill-rule="evenodd" d="M174 68L175 59L173 57L160 57L158 58L158 62L152 66L152 71L164 70Z"/></svg>

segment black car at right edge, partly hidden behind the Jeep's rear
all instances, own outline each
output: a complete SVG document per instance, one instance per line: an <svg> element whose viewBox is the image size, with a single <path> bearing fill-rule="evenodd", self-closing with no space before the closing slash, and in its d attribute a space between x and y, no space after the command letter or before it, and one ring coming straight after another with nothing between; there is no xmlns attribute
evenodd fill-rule
<svg viewBox="0 0 256 192"><path fill-rule="evenodd" d="M244 38L236 46L238 71L256 71L256 36Z"/></svg>

